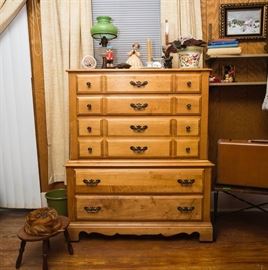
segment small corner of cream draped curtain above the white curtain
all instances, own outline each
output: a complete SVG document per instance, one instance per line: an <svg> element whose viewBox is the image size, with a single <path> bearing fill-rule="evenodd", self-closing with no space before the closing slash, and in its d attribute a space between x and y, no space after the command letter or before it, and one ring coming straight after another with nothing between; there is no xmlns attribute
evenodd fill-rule
<svg viewBox="0 0 268 270"><path fill-rule="evenodd" d="M26 0L0 0L0 34L16 17Z"/></svg>

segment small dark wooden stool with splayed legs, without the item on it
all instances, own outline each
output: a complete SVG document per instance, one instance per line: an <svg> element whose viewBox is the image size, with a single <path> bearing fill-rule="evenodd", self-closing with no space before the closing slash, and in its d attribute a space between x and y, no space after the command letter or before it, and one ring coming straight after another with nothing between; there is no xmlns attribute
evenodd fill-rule
<svg viewBox="0 0 268 270"><path fill-rule="evenodd" d="M73 254L73 247L72 247L72 244L70 241L70 236L69 236L69 233L67 230L70 221L67 217L64 217L64 216L59 216L59 219L61 220L61 223L62 223L61 228L58 231L56 231L50 235L46 235L46 236L30 235L24 231L24 227L19 230L17 236L21 240L21 244L20 244L19 256L18 256L17 261L16 261L16 268L17 269L20 268L20 266L21 266L22 255L24 252L24 248L26 246L26 242L43 241L43 270L47 270L48 269L47 255L48 255L48 248L49 248L49 239L53 236L58 235L61 232L64 233L64 237L65 237L65 240L67 242L69 254L71 254L71 255Z"/></svg>

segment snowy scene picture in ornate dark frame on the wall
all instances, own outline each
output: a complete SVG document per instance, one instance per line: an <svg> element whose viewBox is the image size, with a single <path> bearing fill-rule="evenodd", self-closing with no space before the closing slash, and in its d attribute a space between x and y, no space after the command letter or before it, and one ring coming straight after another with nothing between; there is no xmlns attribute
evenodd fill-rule
<svg viewBox="0 0 268 270"><path fill-rule="evenodd" d="M267 2L221 5L220 36L236 39L265 39L267 9Z"/></svg>

